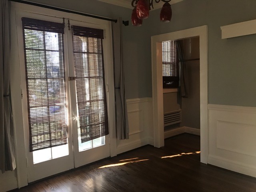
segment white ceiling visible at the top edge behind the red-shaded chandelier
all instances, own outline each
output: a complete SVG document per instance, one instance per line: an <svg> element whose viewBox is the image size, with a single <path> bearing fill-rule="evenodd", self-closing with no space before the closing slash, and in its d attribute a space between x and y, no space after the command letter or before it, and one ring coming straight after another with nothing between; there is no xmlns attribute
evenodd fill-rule
<svg viewBox="0 0 256 192"><path fill-rule="evenodd" d="M122 7L133 9L133 7L132 7L132 0L98 0L98 1L102 1L102 2L105 2L105 3L110 3L110 4L117 5L117 6L122 6ZM170 2L170 4L178 3L180 1L183 1L183 0L172 0ZM164 4L164 2L162 2L162 1L159 2L159 3L156 3L153 0L154 9L161 8L163 6L163 4Z"/></svg>

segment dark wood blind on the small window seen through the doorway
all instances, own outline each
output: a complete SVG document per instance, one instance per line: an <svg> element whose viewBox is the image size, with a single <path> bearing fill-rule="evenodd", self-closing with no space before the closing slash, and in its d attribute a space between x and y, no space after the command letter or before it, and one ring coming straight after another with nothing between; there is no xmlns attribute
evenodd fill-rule
<svg viewBox="0 0 256 192"><path fill-rule="evenodd" d="M179 87L177 42L162 42L163 88Z"/></svg>

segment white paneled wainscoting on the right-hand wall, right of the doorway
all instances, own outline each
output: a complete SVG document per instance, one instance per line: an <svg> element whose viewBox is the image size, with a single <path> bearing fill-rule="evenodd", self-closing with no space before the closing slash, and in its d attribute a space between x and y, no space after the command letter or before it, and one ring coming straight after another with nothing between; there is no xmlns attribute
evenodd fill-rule
<svg viewBox="0 0 256 192"><path fill-rule="evenodd" d="M208 105L208 163L256 177L256 108Z"/></svg>

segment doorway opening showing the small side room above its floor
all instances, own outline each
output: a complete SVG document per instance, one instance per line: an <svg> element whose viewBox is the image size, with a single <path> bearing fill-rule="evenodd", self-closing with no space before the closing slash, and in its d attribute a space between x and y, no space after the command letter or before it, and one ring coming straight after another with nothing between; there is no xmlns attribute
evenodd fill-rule
<svg viewBox="0 0 256 192"><path fill-rule="evenodd" d="M164 138L200 135L199 37L162 42L162 58Z"/></svg>

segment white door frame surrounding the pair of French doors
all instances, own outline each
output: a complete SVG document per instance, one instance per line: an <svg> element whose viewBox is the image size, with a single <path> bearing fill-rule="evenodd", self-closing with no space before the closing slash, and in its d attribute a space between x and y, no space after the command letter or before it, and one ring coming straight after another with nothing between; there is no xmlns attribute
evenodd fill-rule
<svg viewBox="0 0 256 192"><path fill-rule="evenodd" d="M27 175L27 162L26 162L26 150L25 150L25 138L24 138L24 121L22 114L22 89L21 89L21 79L20 79L20 60L18 51L18 36L17 36L17 14L22 12L36 13L47 16L53 16L58 18L70 18L71 20L83 21L94 24L102 24L102 20L95 18L90 18L82 15L71 14L56 10L50 10L47 8L42 8L38 6L32 6L27 4L22 4L18 2L12 2L11 8L11 92L12 92L12 112L14 120L14 142L16 147L16 170L17 170L17 181L18 188L28 185L28 175ZM104 22L106 23L106 22ZM108 25L109 30L106 30L106 36L109 37L109 42L112 42L111 36L111 23ZM115 132L115 110L114 110L114 71L113 71L113 58L112 58L112 43L107 50L108 58L104 58L104 62L107 62L107 67L105 68L106 76L112 77L108 79L108 115L109 115L109 131L110 131L110 156L116 156L116 132ZM110 53L109 53L110 52Z"/></svg>

